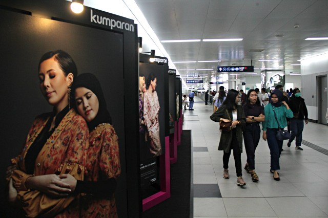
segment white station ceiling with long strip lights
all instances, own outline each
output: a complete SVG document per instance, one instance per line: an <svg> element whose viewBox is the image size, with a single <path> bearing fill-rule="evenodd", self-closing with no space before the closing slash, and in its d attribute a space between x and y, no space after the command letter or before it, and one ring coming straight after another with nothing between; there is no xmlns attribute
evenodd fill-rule
<svg viewBox="0 0 328 218"><path fill-rule="evenodd" d="M300 64L300 59L328 52L328 40L304 40L308 37L328 37L328 0L135 2L159 40L243 38L242 41L162 43L173 62L221 60L174 63L185 80L187 75L207 75L199 78L215 81L213 76L219 75L216 73L218 64L253 64L254 73L258 75L264 68L285 70L286 74L300 73L300 66L290 64ZM260 59L277 61L258 61ZM186 69L189 71L181 71Z"/></svg>

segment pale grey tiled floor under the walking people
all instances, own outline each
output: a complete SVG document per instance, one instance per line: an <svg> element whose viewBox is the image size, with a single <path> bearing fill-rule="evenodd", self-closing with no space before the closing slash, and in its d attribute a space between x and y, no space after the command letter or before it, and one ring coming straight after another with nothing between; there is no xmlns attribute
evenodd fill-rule
<svg viewBox="0 0 328 218"><path fill-rule="evenodd" d="M195 101L197 101L197 97ZM223 151L217 150L219 125L210 120L212 105L195 103L194 111L184 111L183 129L192 130L193 216L194 217L328 217L328 156L295 142L284 142L280 157L280 181L272 178L270 150L260 139L255 167L259 182L243 170L247 186L236 185L233 155L229 161L230 179L223 179ZM328 127L305 125L303 140L328 150ZM241 155L242 165L246 162Z"/></svg>

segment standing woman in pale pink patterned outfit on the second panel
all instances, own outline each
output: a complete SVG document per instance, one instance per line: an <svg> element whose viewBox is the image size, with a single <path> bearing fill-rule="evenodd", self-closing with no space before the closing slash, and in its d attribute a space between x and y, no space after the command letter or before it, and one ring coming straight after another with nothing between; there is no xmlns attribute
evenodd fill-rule
<svg viewBox="0 0 328 218"><path fill-rule="evenodd" d="M162 147L159 137L159 102L155 91L157 78L155 74L151 73L147 78L146 86L147 92L144 94L144 119L147 126L147 133L149 136L150 152L153 157L161 155Z"/></svg>

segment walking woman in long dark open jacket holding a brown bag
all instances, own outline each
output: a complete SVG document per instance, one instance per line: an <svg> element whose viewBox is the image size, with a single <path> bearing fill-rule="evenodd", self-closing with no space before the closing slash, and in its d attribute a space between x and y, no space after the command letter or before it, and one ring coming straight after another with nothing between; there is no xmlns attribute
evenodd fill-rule
<svg viewBox="0 0 328 218"><path fill-rule="evenodd" d="M230 90L226 100L218 108L216 112L211 115L211 120L215 122L230 122L232 121L231 131L222 131L218 150L223 150L223 178L229 179L229 158L231 150L234 153L237 185L243 186L246 183L242 179L241 173L241 152L242 152L242 128L245 125L245 114L239 102L239 92Z"/></svg>

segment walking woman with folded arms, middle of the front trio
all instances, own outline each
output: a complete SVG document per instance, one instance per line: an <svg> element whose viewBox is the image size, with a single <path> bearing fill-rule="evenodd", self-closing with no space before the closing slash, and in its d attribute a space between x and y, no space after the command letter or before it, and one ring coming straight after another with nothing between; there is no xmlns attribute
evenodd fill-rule
<svg viewBox="0 0 328 218"><path fill-rule="evenodd" d="M255 172L255 150L261 137L260 122L264 121L265 116L264 108L261 105L255 90L248 91L243 110L246 117L243 137L247 154L247 163L244 169L248 173L251 173L253 182L258 182L259 179Z"/></svg>

